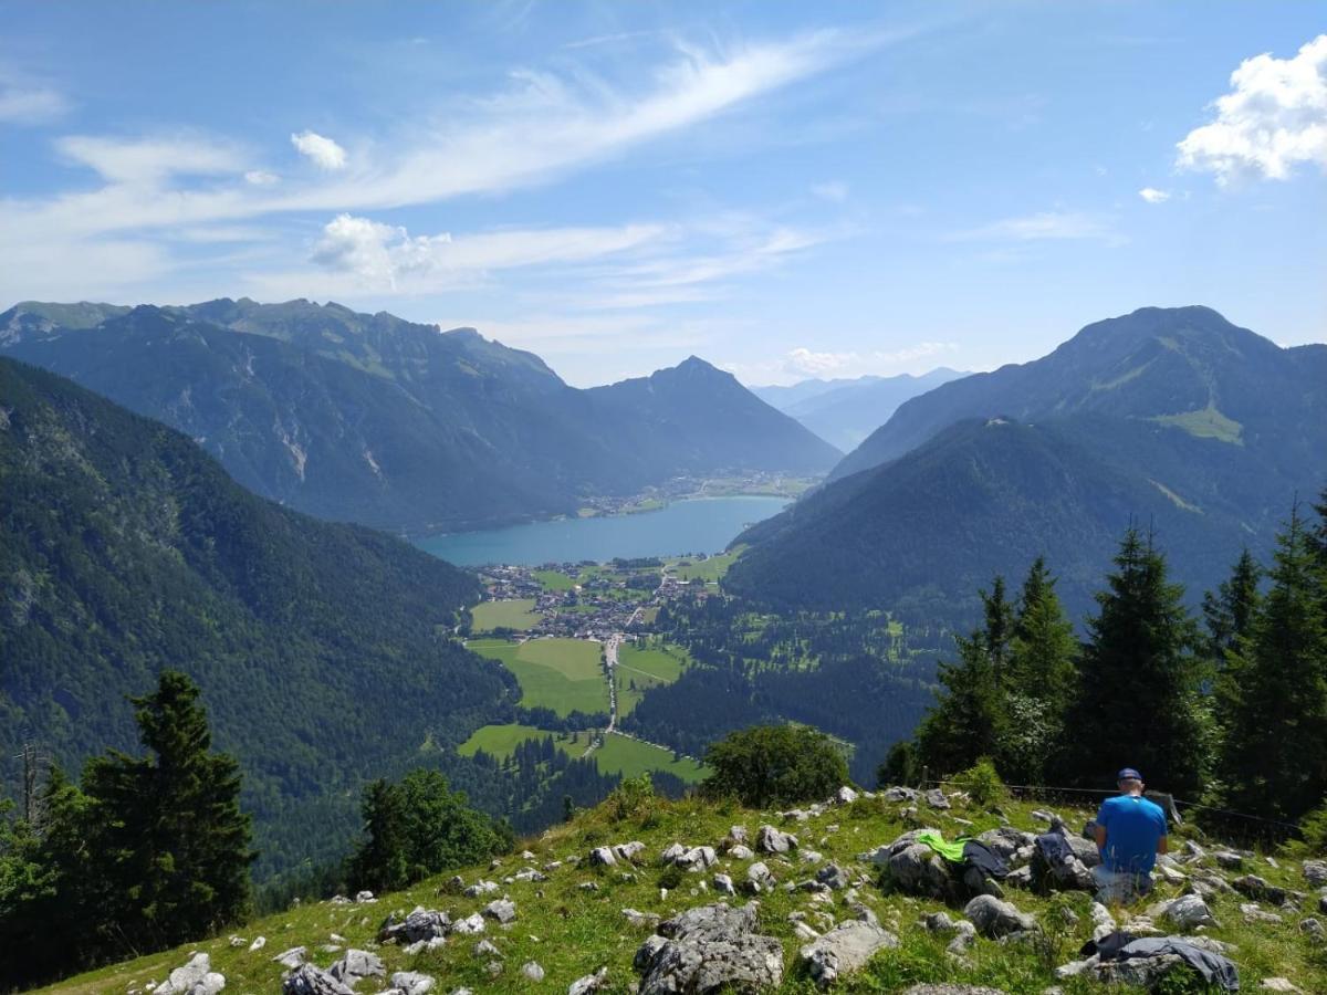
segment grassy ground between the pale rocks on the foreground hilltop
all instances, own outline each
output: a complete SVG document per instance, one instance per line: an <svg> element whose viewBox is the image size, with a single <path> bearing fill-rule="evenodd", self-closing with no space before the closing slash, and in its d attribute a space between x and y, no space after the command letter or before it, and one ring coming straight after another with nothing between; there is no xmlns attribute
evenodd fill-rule
<svg viewBox="0 0 1327 995"><path fill-rule="evenodd" d="M626 992L638 978L632 970L632 958L653 929L649 923L633 923L624 910L669 918L719 901L723 897L715 894L710 884L713 874L727 873L740 886L747 868L755 861L764 861L780 882L778 889L759 897L759 931L778 938L784 951L787 970L780 991L815 991L812 980L796 966L798 950L804 941L795 935L795 922L790 917L803 913L808 925L823 931L831 919L852 919L855 909L849 906L853 902L873 910L881 925L898 937L900 946L878 953L861 972L840 979L837 991L894 992L917 982L986 984L1010 995L1039 994L1055 984L1064 995L1124 991L1087 978L1056 980L1054 976L1054 967L1074 961L1078 949L1091 935L1089 896L1084 893L1043 897L1007 888L1006 898L1038 918L1046 941L1040 945L1002 945L979 938L959 959L946 954L950 934L930 933L922 925L928 913L945 909L940 901L893 893L881 884L878 872L871 864L859 860L859 854L888 844L918 825L938 828L946 838L1001 825L998 815L978 808L962 796L953 799L954 807L947 812L920 805L916 815L908 813L905 804L864 796L847 805L825 807L805 821L780 819L771 811L698 799L674 803L652 799L633 807L618 804L621 797L610 799L579 815L575 821L518 845L514 854L492 868L474 866L458 872L466 885L480 880L498 882L499 890L492 894L463 897L459 889L446 884L450 874L442 874L406 892L380 896L372 905L318 902L295 907L251 922L234 934L114 964L68 979L46 991L145 992L150 983L162 982L170 970L184 964L191 954L204 951L211 957L212 970L226 975L227 991L276 992L285 968L273 958L291 947L304 946L309 961L324 968L342 957L346 949L368 950L381 957L387 976L361 980L360 992L386 988L391 972L403 970L434 976L435 992L462 987L475 992L563 992L573 980L601 967L608 968L604 991ZM1044 823L1034 819L1036 808L1026 803L1006 803L1001 811L1015 828L1039 830ZM1066 808L1055 811L1071 827L1082 825L1091 815ZM788 858L756 853L748 860L721 854L715 866L698 873L682 873L660 862L660 853L673 842L717 846L730 827L743 825L754 838L762 824L795 833L800 840L798 853ZM1200 840L1209 850L1216 849L1197 830L1182 828L1172 838L1172 853L1182 848L1185 838ZM577 866L572 862L572 858L584 858L593 846L632 840L645 844L636 866L591 866L584 860ZM525 848L529 856L523 854ZM819 852L820 860L808 857L808 850ZM853 888L829 892L825 901L824 896L788 892L782 886L813 878L816 869L829 861L847 869ZM1208 861L1210 858L1205 858L1205 866ZM1238 893L1221 894L1209 902L1220 926L1204 930L1205 934L1233 945L1229 955L1239 967L1243 991L1257 991L1262 979L1274 976L1289 978L1303 992L1327 991L1327 946L1315 943L1299 925L1304 917L1314 914L1319 902L1303 878L1300 862L1247 854L1243 864L1242 870L1222 873L1231 878L1242 873L1258 874L1273 885L1307 892L1304 907L1273 910L1263 902L1261 910L1274 911L1281 921L1249 921L1241 910L1249 898ZM1193 866L1185 865L1181 872L1189 873ZM537 869L547 874L547 880L512 880L523 869ZM593 890L585 888L589 884L594 885ZM1158 881L1151 901L1177 897L1182 889L1182 882ZM488 921L483 935L453 934L439 949L414 955L407 955L395 945L377 943L380 925L390 913L399 917L418 905L450 911L453 922L456 922L504 894L518 910L515 922L508 926ZM748 898L739 896L727 901L740 905ZM947 911L955 919L962 915L961 907ZM1143 906L1112 911L1127 929L1131 911L1141 915ZM257 937L264 937L265 945L251 951L249 945ZM475 946L480 939L495 945L499 955L476 954ZM544 970L541 982L523 974L523 966L531 961ZM1162 991L1174 995L1201 988L1170 975Z"/></svg>

